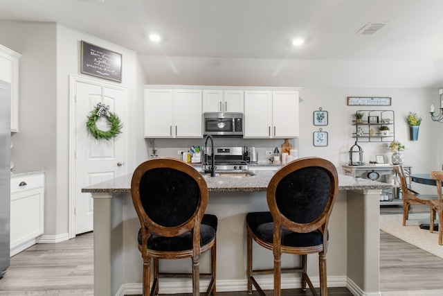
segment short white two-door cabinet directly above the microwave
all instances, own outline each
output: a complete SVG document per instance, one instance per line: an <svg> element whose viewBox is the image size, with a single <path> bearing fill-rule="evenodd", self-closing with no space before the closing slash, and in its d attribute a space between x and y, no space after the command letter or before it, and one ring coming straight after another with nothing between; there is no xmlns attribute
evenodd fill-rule
<svg viewBox="0 0 443 296"><path fill-rule="evenodd" d="M203 112L243 113L244 92L241 90L204 90Z"/></svg>

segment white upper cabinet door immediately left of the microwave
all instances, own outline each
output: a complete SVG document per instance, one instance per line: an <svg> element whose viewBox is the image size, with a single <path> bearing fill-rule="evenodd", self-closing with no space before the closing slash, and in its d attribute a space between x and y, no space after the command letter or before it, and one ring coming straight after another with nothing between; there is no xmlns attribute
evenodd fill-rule
<svg viewBox="0 0 443 296"><path fill-rule="evenodd" d="M201 90L174 91L174 137L203 138Z"/></svg>

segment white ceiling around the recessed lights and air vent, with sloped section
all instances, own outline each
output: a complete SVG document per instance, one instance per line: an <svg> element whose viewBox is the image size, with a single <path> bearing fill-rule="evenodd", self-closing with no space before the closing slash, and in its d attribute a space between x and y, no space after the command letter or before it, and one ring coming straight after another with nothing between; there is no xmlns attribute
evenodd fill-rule
<svg viewBox="0 0 443 296"><path fill-rule="evenodd" d="M442 13L442 0L0 1L0 19L55 21L133 49L150 83L200 85L440 87ZM370 21L388 24L355 35ZM152 44L153 32L165 40Z"/></svg>

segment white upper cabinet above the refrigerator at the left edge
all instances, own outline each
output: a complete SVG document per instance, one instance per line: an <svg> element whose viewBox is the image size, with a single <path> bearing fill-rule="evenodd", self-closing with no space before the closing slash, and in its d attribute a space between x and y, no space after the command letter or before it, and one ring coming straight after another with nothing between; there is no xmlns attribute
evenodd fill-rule
<svg viewBox="0 0 443 296"><path fill-rule="evenodd" d="M21 55L0 45L0 80L11 84L11 132L19 131L19 58Z"/></svg>

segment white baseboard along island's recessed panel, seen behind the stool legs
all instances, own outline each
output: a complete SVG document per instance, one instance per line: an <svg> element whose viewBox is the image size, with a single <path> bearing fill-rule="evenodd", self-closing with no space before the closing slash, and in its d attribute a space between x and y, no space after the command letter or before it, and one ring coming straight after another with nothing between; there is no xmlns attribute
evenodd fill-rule
<svg viewBox="0 0 443 296"><path fill-rule="evenodd" d="M273 277L264 276L262 279L257 279L263 290L273 290ZM320 286L318 277L311 277L312 284L315 287ZM208 279L200 280L200 291L206 290L209 285ZM328 287L345 287L347 285L347 277L327 277ZM217 280L217 292L233 292L246 291L248 289L248 281L246 279L239 280ZM294 281L291 275L282 275L282 289L301 288L300 281ZM125 295L141 295L141 284L123 284L118 289L115 296ZM187 279L161 279L159 285L160 294L178 294L178 293L192 293L192 282ZM369 296L369 294L367 294ZM372 295L371 295L372 296Z"/></svg>

